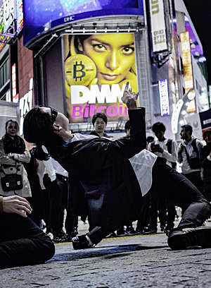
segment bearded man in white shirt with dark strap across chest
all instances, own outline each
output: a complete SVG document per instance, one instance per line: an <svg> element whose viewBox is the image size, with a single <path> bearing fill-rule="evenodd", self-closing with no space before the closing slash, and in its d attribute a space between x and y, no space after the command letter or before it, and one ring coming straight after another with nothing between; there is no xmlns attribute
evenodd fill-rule
<svg viewBox="0 0 211 288"><path fill-rule="evenodd" d="M203 192L203 181L200 176L200 153L203 149L203 141L192 135L191 125L181 126L182 139L178 150L178 162L182 164L181 173Z"/></svg>

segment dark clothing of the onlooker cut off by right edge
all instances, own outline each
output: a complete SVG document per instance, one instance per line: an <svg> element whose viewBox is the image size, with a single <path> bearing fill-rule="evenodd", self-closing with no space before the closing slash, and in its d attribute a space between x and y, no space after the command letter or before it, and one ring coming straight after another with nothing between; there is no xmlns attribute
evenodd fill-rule
<svg viewBox="0 0 211 288"><path fill-rule="evenodd" d="M211 201L211 161L207 160L207 156L210 155L210 151L211 143L207 143L200 155L201 166L203 167L204 193L209 201Z"/></svg>

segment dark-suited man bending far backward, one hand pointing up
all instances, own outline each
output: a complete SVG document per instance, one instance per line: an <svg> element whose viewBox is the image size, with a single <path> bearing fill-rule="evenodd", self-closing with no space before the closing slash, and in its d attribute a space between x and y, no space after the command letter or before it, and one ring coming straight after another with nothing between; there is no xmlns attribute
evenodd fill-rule
<svg viewBox="0 0 211 288"><path fill-rule="evenodd" d="M137 218L141 203L141 186L129 158L146 148L145 109L136 107L138 94L126 88L122 101L127 104L131 124L130 137L118 140L93 138L74 140L68 130L68 119L49 107L37 107L28 112L24 119L25 139L45 145L68 173L79 179L84 188L84 200L89 213L90 232L72 239L75 249L89 248L98 244L110 232L128 221ZM168 244L171 248L187 246L211 246L208 236L211 229L195 228L203 224L210 214L210 203L205 200L183 175L169 167L163 158L147 150L146 162L152 169L153 181L163 183L166 188L158 193L170 193L171 198L186 206L177 231L171 232ZM172 181L174 185L172 187ZM183 229L188 228L185 232ZM191 228L191 231L190 231ZM198 238L199 234L199 238Z"/></svg>

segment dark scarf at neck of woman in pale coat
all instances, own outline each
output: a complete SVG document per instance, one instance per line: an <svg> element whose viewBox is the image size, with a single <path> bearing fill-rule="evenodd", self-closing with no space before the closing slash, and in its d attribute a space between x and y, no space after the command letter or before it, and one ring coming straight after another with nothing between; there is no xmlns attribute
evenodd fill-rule
<svg viewBox="0 0 211 288"><path fill-rule="evenodd" d="M25 151L25 143L20 136L15 135L14 138L11 138L11 136L5 134L5 136L2 139L4 143L4 151L6 154L8 153L23 154L23 152Z"/></svg>

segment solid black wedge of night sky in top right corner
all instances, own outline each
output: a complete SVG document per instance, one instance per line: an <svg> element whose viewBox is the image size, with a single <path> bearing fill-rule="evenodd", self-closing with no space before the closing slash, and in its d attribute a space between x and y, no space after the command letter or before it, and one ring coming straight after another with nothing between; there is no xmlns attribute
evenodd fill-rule
<svg viewBox="0 0 211 288"><path fill-rule="evenodd" d="M184 4L203 44L203 52L207 59L208 83L211 85L211 0L184 0Z"/></svg>

